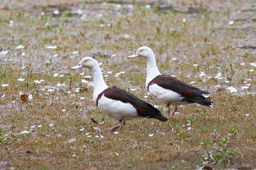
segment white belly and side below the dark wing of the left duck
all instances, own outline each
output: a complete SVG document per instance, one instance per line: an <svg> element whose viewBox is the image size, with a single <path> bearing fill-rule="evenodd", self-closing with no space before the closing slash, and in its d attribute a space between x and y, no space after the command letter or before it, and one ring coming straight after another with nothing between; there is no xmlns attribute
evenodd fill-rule
<svg viewBox="0 0 256 170"><path fill-rule="evenodd" d="M138 117L137 110L132 104L109 99L104 94L98 101L98 107L106 115L117 120L131 120L132 118Z"/></svg>

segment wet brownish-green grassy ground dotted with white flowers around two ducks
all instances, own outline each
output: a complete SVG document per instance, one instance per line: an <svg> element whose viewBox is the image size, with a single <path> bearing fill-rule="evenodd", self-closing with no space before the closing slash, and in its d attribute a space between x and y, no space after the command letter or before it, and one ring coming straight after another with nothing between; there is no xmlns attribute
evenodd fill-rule
<svg viewBox="0 0 256 170"><path fill-rule="evenodd" d="M253 1L125 2L1 1L0 169L256 168ZM70 67L95 57L108 85L164 113L147 97L145 61L127 60L143 45L162 73L211 92L214 107L108 134L118 122L93 103L91 73Z"/></svg>

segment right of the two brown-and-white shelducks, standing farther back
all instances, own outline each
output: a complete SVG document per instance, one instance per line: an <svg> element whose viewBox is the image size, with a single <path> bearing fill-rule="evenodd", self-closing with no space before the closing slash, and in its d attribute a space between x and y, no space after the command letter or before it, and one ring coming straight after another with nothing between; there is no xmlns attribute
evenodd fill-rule
<svg viewBox="0 0 256 170"><path fill-rule="evenodd" d="M151 48L141 46L136 53L129 56L129 58L132 57L143 57L146 60L147 90L152 97L166 104L168 107L167 113L170 117L178 110L179 105L198 103L212 107L213 102L205 98L205 96L209 96L209 92L188 85L172 76L161 74ZM175 106L172 113L170 111L170 105Z"/></svg>

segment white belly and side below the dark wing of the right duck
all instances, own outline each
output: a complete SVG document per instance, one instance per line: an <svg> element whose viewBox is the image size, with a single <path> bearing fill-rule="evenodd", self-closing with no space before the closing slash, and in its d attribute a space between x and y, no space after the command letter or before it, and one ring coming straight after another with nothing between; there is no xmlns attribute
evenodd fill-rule
<svg viewBox="0 0 256 170"><path fill-rule="evenodd" d="M164 89L157 84L152 84L148 87L148 92L157 99L158 101L164 104L172 104L176 101L182 101L182 96L177 92L173 92L172 90Z"/></svg>

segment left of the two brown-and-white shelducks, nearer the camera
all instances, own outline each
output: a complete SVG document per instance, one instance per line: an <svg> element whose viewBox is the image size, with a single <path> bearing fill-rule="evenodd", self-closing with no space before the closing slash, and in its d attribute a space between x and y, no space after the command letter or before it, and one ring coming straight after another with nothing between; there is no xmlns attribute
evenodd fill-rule
<svg viewBox="0 0 256 170"><path fill-rule="evenodd" d="M79 69L81 67L87 67L92 71L93 101L106 115L120 122L120 124L109 129L109 132L116 131L118 128L122 130L125 121L133 118L156 118L162 122L168 120L151 104L138 99L136 96L118 87L108 87L103 79L97 60L92 57L84 57L72 69Z"/></svg>

